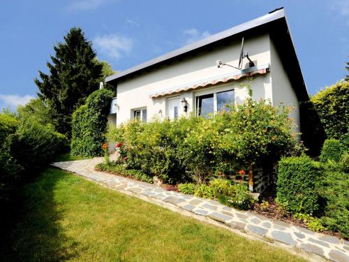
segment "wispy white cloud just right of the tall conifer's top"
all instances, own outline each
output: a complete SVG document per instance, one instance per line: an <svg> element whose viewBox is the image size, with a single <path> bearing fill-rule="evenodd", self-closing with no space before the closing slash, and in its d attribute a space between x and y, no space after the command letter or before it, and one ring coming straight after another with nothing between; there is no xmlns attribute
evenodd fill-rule
<svg viewBox="0 0 349 262"><path fill-rule="evenodd" d="M103 54L119 59L123 53L128 54L133 48L133 40L126 36L110 34L94 38L96 48Z"/></svg>

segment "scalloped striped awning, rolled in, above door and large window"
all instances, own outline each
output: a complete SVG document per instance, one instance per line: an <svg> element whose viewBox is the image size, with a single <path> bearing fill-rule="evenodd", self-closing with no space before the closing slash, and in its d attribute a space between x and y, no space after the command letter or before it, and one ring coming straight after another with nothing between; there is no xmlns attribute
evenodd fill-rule
<svg viewBox="0 0 349 262"><path fill-rule="evenodd" d="M178 85L175 87L170 87L167 89L158 90L156 92L153 92L150 94L151 98L156 98L158 96L166 96L169 94L176 94L179 92L188 91L190 89L197 89L200 87L211 87L212 85L218 85L223 82L228 82L230 80L239 80L240 78L244 77L250 77L255 74L265 74L269 72L270 70L270 64L263 64L260 66L253 66L250 68L238 70L232 73L224 74L224 75L218 75L214 78L206 78L202 80L198 80L195 82L189 82L184 85Z"/></svg>

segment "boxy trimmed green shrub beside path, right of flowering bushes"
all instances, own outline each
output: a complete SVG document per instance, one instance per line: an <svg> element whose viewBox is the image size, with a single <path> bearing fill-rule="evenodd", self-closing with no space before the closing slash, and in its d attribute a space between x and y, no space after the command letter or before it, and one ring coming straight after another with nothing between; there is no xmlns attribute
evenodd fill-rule
<svg viewBox="0 0 349 262"><path fill-rule="evenodd" d="M318 177L313 161L306 155L283 157L279 161L276 201L290 212L313 214L318 210L315 180Z"/></svg>

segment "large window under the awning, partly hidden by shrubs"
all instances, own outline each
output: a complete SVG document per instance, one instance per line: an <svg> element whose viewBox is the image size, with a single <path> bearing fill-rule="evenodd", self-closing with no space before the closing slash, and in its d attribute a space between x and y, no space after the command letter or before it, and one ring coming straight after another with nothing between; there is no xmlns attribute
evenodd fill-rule
<svg viewBox="0 0 349 262"><path fill-rule="evenodd" d="M228 104L235 102L234 96L234 89L212 92L211 94L200 95L199 93L196 96L196 113L208 117L210 113L226 110Z"/></svg>

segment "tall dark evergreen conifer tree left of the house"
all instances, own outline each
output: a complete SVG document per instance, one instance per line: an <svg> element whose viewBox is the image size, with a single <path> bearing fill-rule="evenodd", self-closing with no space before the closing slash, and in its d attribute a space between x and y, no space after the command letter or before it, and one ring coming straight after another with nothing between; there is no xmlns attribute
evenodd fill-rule
<svg viewBox="0 0 349 262"><path fill-rule="evenodd" d="M50 106L57 131L70 137L71 115L98 89L103 65L80 28L70 29L64 42L54 46L54 52L52 64L47 62L50 73L39 71L41 81L36 78L34 82L40 90L38 96Z"/></svg>

